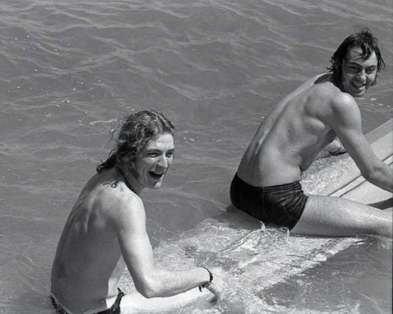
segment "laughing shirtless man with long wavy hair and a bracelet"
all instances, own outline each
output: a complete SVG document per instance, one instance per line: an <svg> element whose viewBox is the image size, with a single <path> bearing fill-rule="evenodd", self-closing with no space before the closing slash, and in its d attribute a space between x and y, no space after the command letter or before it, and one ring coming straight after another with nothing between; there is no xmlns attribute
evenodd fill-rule
<svg viewBox="0 0 393 314"><path fill-rule="evenodd" d="M123 124L117 148L84 186L58 242L51 292L59 313L132 310L141 297L116 289L126 266L146 298L198 286L222 298L223 281L207 268L168 270L154 264L140 193L161 186L173 161L174 131L154 111L131 114Z"/></svg>

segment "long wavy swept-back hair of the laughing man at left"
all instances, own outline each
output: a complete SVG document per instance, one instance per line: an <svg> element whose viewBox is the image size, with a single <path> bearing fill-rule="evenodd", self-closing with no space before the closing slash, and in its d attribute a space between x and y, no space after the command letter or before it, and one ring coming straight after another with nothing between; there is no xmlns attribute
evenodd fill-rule
<svg viewBox="0 0 393 314"><path fill-rule="evenodd" d="M156 140L164 133L174 135L175 127L163 114L154 110L131 114L120 128L116 148L109 153L106 161L97 165L97 172L123 163L133 170L135 159L147 142Z"/></svg>

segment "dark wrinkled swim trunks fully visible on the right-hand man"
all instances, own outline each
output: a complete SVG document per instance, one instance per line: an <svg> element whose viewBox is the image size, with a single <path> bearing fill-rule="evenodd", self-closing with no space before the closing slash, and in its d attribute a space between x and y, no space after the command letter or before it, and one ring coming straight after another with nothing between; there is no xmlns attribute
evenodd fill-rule
<svg viewBox="0 0 393 314"><path fill-rule="evenodd" d="M292 229L303 213L308 196L299 181L267 187L244 182L237 173L230 185L232 205L263 223Z"/></svg>

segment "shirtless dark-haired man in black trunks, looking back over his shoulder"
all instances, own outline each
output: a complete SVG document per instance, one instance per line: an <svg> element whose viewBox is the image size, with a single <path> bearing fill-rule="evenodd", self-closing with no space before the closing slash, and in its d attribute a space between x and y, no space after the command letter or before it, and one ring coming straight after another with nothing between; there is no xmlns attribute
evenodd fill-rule
<svg viewBox="0 0 393 314"><path fill-rule="evenodd" d="M232 204L264 223L309 235L375 234L392 237L392 212L351 200L305 195L299 183L337 136L366 180L393 192L393 170L362 133L355 97L375 85L385 67L369 29L347 37L329 72L284 97L260 124L230 188Z"/></svg>

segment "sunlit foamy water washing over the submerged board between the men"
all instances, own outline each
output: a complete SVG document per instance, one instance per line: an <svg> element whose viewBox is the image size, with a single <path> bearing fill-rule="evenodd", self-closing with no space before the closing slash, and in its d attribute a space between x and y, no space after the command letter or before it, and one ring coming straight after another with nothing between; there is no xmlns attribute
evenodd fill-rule
<svg viewBox="0 0 393 314"><path fill-rule="evenodd" d="M290 236L287 228L262 223L259 229L248 230L206 219L200 226L160 245L155 249L155 257L162 267L206 265L220 273L225 278L225 299L212 304L209 302L212 295L201 294L187 305L157 313L288 313L285 306L278 305L280 295L272 298L265 291L301 275L350 245L363 243L360 238ZM126 285L132 287L132 283ZM330 310L335 313L335 309ZM291 309L290 313L319 312Z"/></svg>

